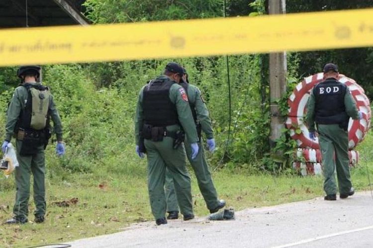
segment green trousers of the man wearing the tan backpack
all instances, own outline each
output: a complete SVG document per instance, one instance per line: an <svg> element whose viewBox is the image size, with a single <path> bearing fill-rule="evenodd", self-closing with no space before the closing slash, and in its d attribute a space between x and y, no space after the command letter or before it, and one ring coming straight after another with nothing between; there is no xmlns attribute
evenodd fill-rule
<svg viewBox="0 0 373 248"><path fill-rule="evenodd" d="M38 153L31 156L19 155L22 141L16 140L16 154L19 166L15 168L15 183L17 191L13 214L16 217L28 216L28 200L30 198L30 177L34 178L34 202L35 216L44 216L46 211L45 202L45 161L44 146L38 147Z"/></svg>

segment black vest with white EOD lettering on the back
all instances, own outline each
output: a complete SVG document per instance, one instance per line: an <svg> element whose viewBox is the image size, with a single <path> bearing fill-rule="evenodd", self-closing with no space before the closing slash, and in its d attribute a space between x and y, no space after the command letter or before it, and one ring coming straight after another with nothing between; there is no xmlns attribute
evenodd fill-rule
<svg viewBox="0 0 373 248"><path fill-rule="evenodd" d="M334 78L327 78L313 88L315 96L315 122L317 124L345 124L345 94L347 86Z"/></svg>

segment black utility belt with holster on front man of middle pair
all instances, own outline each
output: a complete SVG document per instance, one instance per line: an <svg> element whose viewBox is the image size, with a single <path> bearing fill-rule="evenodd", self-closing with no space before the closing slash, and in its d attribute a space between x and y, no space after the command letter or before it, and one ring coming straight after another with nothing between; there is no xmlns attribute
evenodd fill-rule
<svg viewBox="0 0 373 248"><path fill-rule="evenodd" d="M185 133L183 130L169 131L166 126L153 126L149 124L144 124L141 135L144 139L149 139L154 142L162 141L163 137L171 137L174 139L174 149L177 149L185 140Z"/></svg>

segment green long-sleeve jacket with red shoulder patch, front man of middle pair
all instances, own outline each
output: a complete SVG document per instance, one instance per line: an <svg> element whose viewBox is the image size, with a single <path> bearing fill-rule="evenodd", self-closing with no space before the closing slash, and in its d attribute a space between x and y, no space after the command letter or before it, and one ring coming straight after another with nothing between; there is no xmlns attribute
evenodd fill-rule
<svg viewBox="0 0 373 248"><path fill-rule="evenodd" d="M158 77L159 79L168 78L166 75L161 75ZM171 80L171 79L170 79ZM145 85L146 86L146 85ZM144 86L144 87L145 87ZM135 114L135 141L136 144L139 144L139 131L142 129L144 124L144 110L143 110L143 91L144 87L140 90L137 106L136 106L136 114ZM191 114L191 110L189 107L188 101L184 100L181 91L179 90L182 88L178 83L174 83L170 88L169 97L173 104L175 104L176 109L178 111L178 118L180 124L183 126L183 129L186 133L187 140L189 143L195 143L198 141L197 130L195 128L195 124L193 121L193 116ZM169 130L175 129L178 125L167 126Z"/></svg>

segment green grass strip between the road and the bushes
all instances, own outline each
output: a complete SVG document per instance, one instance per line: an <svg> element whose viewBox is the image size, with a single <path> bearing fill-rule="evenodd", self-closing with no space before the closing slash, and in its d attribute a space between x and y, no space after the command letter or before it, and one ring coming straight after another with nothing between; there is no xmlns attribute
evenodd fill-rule
<svg viewBox="0 0 373 248"><path fill-rule="evenodd" d="M371 135L359 147L361 163L352 170L356 189L368 190L369 174L372 175L373 152ZM102 169L91 174L72 174L63 169L47 172L47 216L43 224L4 225L12 215L14 179L0 177L0 247L27 247L51 243L64 243L120 231L134 222L154 221L150 212L146 163L134 156L108 161ZM53 162L49 161L49 163ZM105 168L105 169L104 169ZM58 175L57 175L58 174ZM192 194L195 214L206 216L205 207L192 175ZM245 208L269 206L323 196L321 176L249 175L242 171L223 169L213 174L220 198L236 211ZM31 186L32 189L32 186ZM78 198L76 204L60 207L55 202ZM34 203L30 199L29 221L33 221Z"/></svg>

